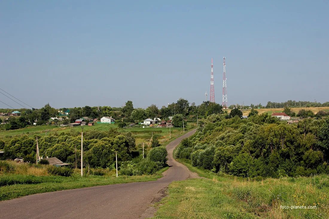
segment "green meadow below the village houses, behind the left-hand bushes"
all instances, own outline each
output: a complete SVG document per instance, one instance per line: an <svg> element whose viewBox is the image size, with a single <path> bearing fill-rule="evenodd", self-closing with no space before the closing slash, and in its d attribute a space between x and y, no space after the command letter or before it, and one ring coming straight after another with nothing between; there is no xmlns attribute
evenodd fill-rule
<svg viewBox="0 0 329 219"><path fill-rule="evenodd" d="M48 135L58 135L61 133L81 133L81 127L84 127L84 131L89 130L99 130L99 131L109 131L111 128L118 128L116 124L95 124L94 126L75 126L75 127L59 127L59 126L51 126L51 125L42 125L42 126L28 126L23 129L17 130L8 130L0 132L0 139L5 142L10 141L14 137L20 137L23 135L27 135L29 137L34 137L35 134L45 136L47 132ZM194 125L192 123L188 123L186 130L193 128ZM136 138L136 145L141 145L142 142L147 144L149 139L152 137L152 132L154 135L159 136L160 143L164 143L169 140L169 128L154 128L147 127L145 128L122 128L117 129L118 132L132 132L132 134ZM177 137L183 134L182 128L171 128L171 138Z"/></svg>

